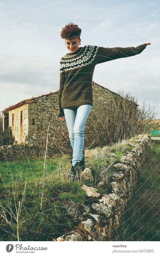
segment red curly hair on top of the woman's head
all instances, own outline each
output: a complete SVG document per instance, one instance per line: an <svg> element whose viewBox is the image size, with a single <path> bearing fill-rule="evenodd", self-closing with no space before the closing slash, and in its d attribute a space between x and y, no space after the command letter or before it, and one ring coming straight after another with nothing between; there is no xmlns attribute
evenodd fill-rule
<svg viewBox="0 0 160 256"><path fill-rule="evenodd" d="M78 25L74 23L70 23L65 25L65 27L62 27L61 31L61 38L68 38L71 39L72 37L78 37L80 39L81 29L78 27Z"/></svg>

